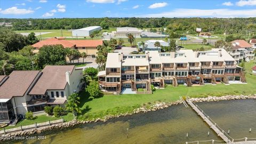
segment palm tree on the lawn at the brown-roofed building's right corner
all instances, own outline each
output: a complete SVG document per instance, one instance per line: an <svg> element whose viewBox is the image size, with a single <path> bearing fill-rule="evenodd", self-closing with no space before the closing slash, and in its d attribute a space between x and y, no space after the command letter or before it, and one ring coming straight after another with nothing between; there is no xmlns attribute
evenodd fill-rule
<svg viewBox="0 0 256 144"><path fill-rule="evenodd" d="M81 113L81 109L79 108L78 104L80 97L78 97L78 93L73 93L68 96L68 103L66 105L66 110L71 111L74 116Z"/></svg>

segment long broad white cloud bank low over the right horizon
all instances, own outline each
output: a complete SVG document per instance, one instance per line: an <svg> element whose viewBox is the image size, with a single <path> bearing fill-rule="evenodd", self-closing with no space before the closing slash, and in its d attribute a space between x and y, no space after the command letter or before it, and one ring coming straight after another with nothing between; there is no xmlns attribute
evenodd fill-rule
<svg viewBox="0 0 256 144"><path fill-rule="evenodd" d="M137 17L148 18L190 18L190 17L204 17L204 18L247 18L256 17L256 9L249 10L230 10L230 9L175 9L169 12L137 15Z"/></svg>

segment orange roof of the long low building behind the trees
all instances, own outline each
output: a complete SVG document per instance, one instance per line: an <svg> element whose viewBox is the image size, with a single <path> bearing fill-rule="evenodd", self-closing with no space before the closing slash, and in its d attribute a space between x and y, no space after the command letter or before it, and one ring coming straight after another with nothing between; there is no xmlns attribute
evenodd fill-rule
<svg viewBox="0 0 256 144"><path fill-rule="evenodd" d="M38 43L33 44L33 47L41 48L44 45L57 45L61 44L63 47L97 47L98 45L102 45L102 40L65 40L58 38L49 38Z"/></svg>

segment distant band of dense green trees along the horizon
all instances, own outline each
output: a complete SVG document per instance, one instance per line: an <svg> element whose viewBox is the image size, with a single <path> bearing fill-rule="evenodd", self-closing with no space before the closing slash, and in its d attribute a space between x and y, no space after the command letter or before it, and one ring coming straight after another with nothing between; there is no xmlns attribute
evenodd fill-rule
<svg viewBox="0 0 256 144"><path fill-rule="evenodd" d="M62 18L0 19L12 22L13 30L78 29L88 26L163 28L175 33L195 33L196 28L215 34L246 33L256 29L256 18Z"/></svg>

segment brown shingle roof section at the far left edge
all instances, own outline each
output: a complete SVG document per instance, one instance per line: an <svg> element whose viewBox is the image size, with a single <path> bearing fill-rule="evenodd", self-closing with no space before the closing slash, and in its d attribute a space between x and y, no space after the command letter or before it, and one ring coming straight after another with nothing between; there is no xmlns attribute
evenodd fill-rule
<svg viewBox="0 0 256 144"><path fill-rule="evenodd" d="M0 86L0 99L22 97L33 83L39 70L14 70Z"/></svg>

